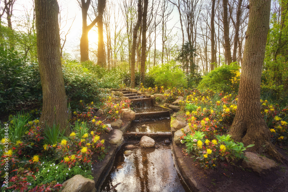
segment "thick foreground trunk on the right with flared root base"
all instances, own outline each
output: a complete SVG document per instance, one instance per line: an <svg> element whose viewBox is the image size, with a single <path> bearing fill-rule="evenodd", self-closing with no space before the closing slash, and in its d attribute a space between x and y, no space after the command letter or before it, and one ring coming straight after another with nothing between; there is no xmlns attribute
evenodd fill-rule
<svg viewBox="0 0 288 192"><path fill-rule="evenodd" d="M283 157L270 141L271 132L260 111L262 64L269 28L271 0L250 0L249 22L243 54L237 111L229 134L252 150L268 150L278 161Z"/></svg>

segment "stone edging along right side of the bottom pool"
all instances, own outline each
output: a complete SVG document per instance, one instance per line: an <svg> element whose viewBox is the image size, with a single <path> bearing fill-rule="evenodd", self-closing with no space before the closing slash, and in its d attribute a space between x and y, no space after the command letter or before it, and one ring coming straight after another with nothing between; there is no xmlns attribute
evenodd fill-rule
<svg viewBox="0 0 288 192"><path fill-rule="evenodd" d="M172 138L172 152L175 156L175 165L177 166L178 170L181 172L181 176L183 177L183 180L188 185L190 189L192 189L193 192L201 191L199 189L196 180L194 179L194 174L189 168L189 165L183 161L185 157L183 157L182 148L178 149L179 147L175 144L174 138ZM186 157L187 158L187 157Z"/></svg>

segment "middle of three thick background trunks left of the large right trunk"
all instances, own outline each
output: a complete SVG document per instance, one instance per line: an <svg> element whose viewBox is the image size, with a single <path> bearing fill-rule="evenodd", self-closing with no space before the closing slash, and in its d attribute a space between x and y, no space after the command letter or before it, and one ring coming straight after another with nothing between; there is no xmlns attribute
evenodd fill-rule
<svg viewBox="0 0 288 192"><path fill-rule="evenodd" d="M223 0L223 33L224 33L224 41L225 41L224 48L227 58L227 65L230 65L230 63L232 63L232 57L231 57L231 47L229 38L227 1L228 0Z"/></svg>

